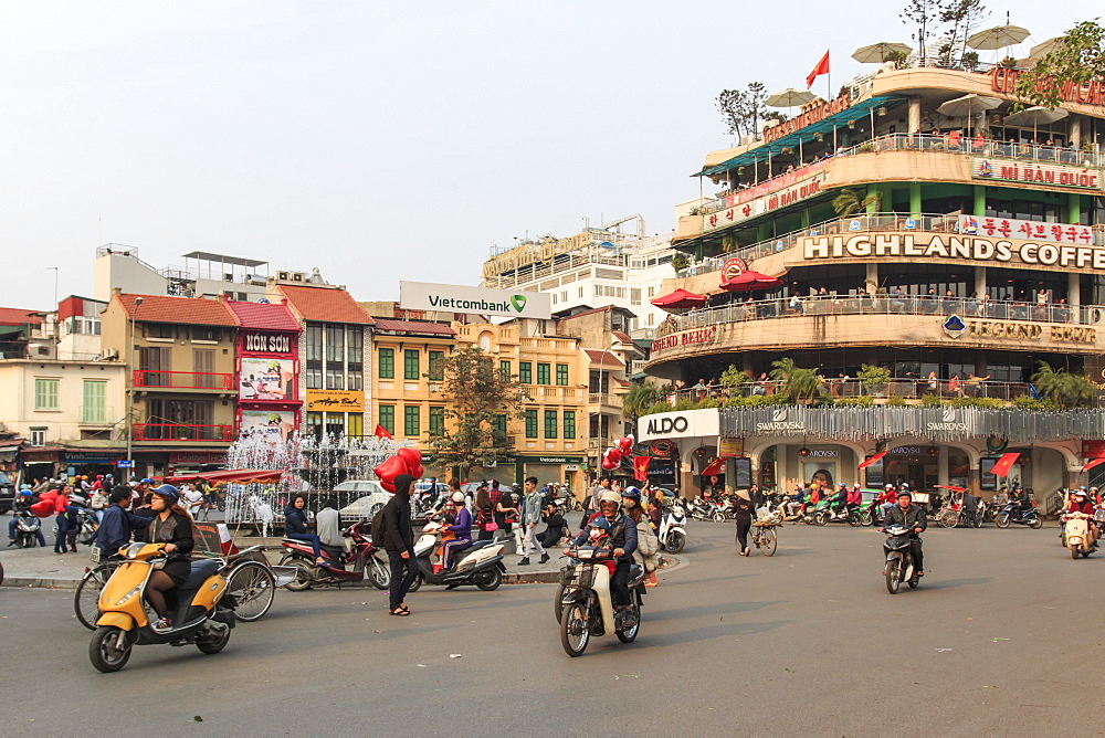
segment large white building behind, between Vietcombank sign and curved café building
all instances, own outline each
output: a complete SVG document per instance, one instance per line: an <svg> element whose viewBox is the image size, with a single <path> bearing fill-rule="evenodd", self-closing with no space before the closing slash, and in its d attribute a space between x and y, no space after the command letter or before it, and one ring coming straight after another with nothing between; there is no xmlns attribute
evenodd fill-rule
<svg viewBox="0 0 1105 738"><path fill-rule="evenodd" d="M676 214L690 207L676 208ZM633 220L636 233L622 233L621 225ZM672 235L646 236L644 220L632 215L564 239L527 238L509 249L492 249L482 285L550 293L556 317L608 305L624 307L638 317L633 335L651 337L666 317L650 301L664 278L674 274Z"/></svg>

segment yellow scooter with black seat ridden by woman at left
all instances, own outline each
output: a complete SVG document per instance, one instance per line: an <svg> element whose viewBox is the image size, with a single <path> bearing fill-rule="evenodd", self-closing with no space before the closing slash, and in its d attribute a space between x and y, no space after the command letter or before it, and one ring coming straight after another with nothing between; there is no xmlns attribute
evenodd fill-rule
<svg viewBox="0 0 1105 738"><path fill-rule="evenodd" d="M150 624L152 610L146 603L149 576L165 566L164 544L131 544L119 549L126 557L99 593L96 631L88 644L92 665L101 672L117 672L130 658L135 645L194 643L203 653L219 653L230 641L234 611L221 602L227 593L222 559L192 561L191 576L182 586L165 593L172 628L164 633Z"/></svg>

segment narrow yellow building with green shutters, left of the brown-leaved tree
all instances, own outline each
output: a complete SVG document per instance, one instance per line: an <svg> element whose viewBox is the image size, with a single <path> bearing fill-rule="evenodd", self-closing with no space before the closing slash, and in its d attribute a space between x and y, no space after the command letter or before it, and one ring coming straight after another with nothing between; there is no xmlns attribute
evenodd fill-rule
<svg viewBox="0 0 1105 738"><path fill-rule="evenodd" d="M382 310L377 310L382 312ZM396 439L425 449L431 433L445 426L441 394L442 361L456 345L448 323L372 316L372 419ZM369 432L375 425L369 428Z"/></svg>

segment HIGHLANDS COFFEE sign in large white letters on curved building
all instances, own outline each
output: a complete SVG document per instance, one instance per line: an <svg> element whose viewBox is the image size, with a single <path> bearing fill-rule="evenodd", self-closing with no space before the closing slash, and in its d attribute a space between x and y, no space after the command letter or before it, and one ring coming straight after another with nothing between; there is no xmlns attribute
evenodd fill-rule
<svg viewBox="0 0 1105 738"><path fill-rule="evenodd" d="M1042 264L1062 268L1105 271L1105 249L1065 243L1022 243L940 233L865 233L862 235L806 236L799 240L807 261L915 256L967 259L978 262Z"/></svg>

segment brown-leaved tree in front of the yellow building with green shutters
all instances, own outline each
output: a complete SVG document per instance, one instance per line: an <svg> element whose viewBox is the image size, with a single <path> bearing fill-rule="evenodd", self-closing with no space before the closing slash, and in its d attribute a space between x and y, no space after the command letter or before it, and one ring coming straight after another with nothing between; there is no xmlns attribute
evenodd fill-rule
<svg viewBox="0 0 1105 738"><path fill-rule="evenodd" d="M444 466L455 467L462 479L473 466L486 466L514 451L496 422L503 415L520 418L526 393L497 363L478 348L465 348L434 367L443 376L445 428L430 435L430 452Z"/></svg>

